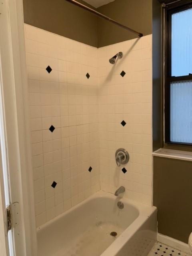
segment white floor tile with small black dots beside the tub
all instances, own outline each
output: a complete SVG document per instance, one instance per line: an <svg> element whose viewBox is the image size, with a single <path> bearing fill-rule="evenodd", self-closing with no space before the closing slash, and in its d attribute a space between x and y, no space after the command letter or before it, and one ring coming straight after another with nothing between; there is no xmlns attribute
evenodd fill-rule
<svg viewBox="0 0 192 256"><path fill-rule="evenodd" d="M170 246L156 242L156 244L154 245L154 247L152 248L148 256L158 256L158 255L159 256L191 256L191 254L186 254Z"/></svg>

